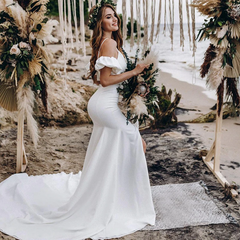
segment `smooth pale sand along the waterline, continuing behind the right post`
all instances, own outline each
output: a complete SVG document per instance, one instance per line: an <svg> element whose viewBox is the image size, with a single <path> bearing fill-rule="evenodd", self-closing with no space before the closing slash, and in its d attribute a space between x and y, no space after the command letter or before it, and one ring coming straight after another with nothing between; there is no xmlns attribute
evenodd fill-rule
<svg viewBox="0 0 240 240"><path fill-rule="evenodd" d="M161 67L161 65L160 65ZM211 111L215 100L208 98L202 87L179 81L171 77L171 74L160 72L157 84L164 84L167 89L176 89L182 95L179 107L195 109L196 111L182 112L178 115L179 122L193 120L202 114ZM186 124L192 135L199 138L206 149L210 149L215 139L215 122ZM240 118L227 118L223 120L221 138L220 168L226 179L240 185Z"/></svg>

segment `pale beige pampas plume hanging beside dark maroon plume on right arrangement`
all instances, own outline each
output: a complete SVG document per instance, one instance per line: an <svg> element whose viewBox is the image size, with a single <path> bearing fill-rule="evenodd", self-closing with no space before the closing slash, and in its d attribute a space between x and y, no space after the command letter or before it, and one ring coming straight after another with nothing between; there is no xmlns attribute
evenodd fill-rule
<svg viewBox="0 0 240 240"><path fill-rule="evenodd" d="M217 89L223 79L222 68L224 50L216 49L216 57L212 60L207 77L207 85L210 89Z"/></svg>

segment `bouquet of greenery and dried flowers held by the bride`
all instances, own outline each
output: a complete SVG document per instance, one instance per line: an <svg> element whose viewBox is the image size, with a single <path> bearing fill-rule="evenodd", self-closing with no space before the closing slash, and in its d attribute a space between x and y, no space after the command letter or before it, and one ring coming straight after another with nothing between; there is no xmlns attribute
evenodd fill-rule
<svg viewBox="0 0 240 240"><path fill-rule="evenodd" d="M122 50L127 59L126 71L131 71L138 63L139 50L136 52L134 62L129 59L124 49ZM155 86L158 75L158 68L156 68L158 57L156 52L147 50L144 59L139 63L148 64L150 62L149 68L145 69L142 74L122 82L117 88L127 109L127 124L128 121L135 123L137 120L141 124L148 118L154 120L152 115L155 114L155 109L158 107L158 86Z"/></svg>

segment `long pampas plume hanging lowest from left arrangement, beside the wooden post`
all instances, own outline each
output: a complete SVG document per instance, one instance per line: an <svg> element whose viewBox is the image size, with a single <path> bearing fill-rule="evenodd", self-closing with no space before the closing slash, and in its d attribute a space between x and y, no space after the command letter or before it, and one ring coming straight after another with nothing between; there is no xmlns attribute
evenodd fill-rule
<svg viewBox="0 0 240 240"><path fill-rule="evenodd" d="M33 144L37 147L39 135L36 120L33 118L34 93L30 87L21 88L17 91L17 102L19 116L27 119L27 127L30 132Z"/></svg>

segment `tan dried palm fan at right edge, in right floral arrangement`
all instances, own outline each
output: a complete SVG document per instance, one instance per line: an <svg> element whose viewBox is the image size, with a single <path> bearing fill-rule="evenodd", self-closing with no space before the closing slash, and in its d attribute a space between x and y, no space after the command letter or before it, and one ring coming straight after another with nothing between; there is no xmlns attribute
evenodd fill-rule
<svg viewBox="0 0 240 240"><path fill-rule="evenodd" d="M240 76L240 43L235 41L236 53L232 60L233 67L226 65L224 69L224 77L237 78Z"/></svg>

